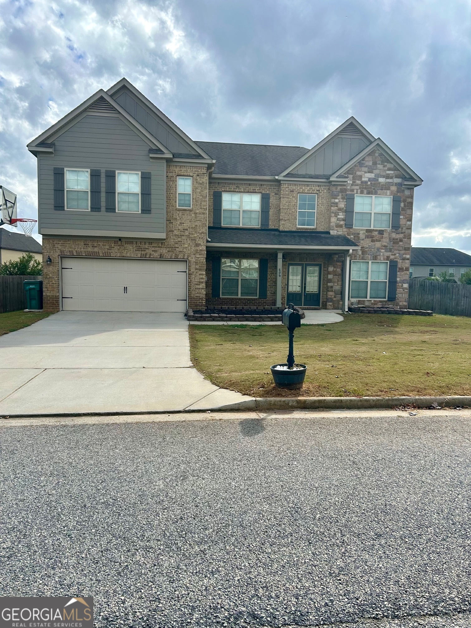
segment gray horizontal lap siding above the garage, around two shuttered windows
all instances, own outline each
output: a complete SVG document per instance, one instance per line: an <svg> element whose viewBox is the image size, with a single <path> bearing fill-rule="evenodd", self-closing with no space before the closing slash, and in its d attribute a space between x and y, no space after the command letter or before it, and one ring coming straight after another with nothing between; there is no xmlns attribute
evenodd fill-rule
<svg viewBox="0 0 471 628"><path fill-rule="evenodd" d="M38 230L77 236L165 237L165 160L149 158L149 144L118 116L87 115L54 141L54 154L38 154ZM54 209L54 168L100 170L100 210ZM151 212L106 211L106 171L151 173Z"/></svg>

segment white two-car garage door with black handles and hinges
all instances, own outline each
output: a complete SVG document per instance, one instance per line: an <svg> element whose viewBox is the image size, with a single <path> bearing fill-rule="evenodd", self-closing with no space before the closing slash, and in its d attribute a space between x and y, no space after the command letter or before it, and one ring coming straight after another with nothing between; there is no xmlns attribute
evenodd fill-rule
<svg viewBox="0 0 471 628"><path fill-rule="evenodd" d="M187 263L62 257L62 309L184 312Z"/></svg>

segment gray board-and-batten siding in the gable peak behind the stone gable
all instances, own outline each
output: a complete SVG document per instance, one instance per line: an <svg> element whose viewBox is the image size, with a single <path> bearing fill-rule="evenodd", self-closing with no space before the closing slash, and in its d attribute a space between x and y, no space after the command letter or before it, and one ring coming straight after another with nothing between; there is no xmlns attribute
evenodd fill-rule
<svg viewBox="0 0 471 628"><path fill-rule="evenodd" d="M311 154L296 170L292 170L290 175L332 175L370 143L350 122L335 138Z"/></svg>

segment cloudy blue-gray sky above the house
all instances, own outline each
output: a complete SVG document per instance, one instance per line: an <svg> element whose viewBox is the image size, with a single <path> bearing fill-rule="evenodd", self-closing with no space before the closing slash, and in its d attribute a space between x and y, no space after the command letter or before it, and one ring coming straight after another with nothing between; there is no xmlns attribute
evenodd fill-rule
<svg viewBox="0 0 471 628"><path fill-rule="evenodd" d="M424 180L413 244L471 252L469 0L0 0L0 33L19 215L26 143L125 76L196 140L310 148L357 117Z"/></svg>

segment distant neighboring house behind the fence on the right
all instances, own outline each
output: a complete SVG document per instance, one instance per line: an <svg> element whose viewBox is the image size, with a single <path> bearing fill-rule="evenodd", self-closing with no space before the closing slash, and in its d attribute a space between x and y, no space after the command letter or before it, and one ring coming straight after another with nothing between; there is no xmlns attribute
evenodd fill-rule
<svg viewBox="0 0 471 628"><path fill-rule="evenodd" d="M439 249L413 246L409 278L436 277L447 271L458 281L462 274L471 269L471 255L457 249Z"/></svg>

